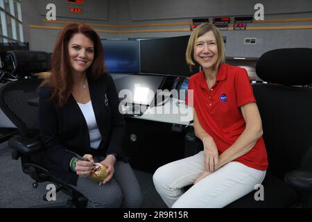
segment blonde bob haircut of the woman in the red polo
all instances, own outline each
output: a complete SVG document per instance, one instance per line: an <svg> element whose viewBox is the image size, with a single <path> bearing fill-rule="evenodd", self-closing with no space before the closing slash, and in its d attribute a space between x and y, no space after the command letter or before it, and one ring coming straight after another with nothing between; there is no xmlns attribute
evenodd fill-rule
<svg viewBox="0 0 312 222"><path fill-rule="evenodd" d="M198 40L198 37L205 35L209 31L212 31L214 33L214 37L216 37L216 44L218 47L218 58L216 60L216 63L213 65L212 69L220 68L220 65L222 65L225 62L225 47L223 43L223 37L218 30L216 26L209 23L203 23L198 26L193 33L191 33L191 37L189 37L189 43L187 44L187 52L186 52L186 59L187 64L192 68L195 65L199 65L198 62L194 59L194 48L196 46L196 42Z"/></svg>

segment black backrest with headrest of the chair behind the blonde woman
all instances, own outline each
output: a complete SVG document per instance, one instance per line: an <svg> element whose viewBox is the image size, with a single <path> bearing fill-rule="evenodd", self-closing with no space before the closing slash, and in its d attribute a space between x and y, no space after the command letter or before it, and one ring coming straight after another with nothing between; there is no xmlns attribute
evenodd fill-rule
<svg viewBox="0 0 312 222"><path fill-rule="evenodd" d="M276 49L257 62L257 75L268 84L253 85L268 151L268 172L312 166L312 49Z"/></svg>

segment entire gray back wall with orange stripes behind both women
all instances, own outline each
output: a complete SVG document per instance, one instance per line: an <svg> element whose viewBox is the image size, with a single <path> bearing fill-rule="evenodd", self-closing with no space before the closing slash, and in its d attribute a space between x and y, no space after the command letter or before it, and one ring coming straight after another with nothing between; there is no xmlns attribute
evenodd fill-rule
<svg viewBox="0 0 312 222"><path fill-rule="evenodd" d="M296 17L312 17L311 0L262 0L264 19L283 19ZM28 24L60 26L44 24L46 3L55 3L57 19L62 21L78 21L97 24L137 25L154 23L191 22L198 17L218 16L253 16L254 4L257 0L86 0L83 15L67 12L68 4L63 0L21 0L24 33L26 42L30 42L32 50L52 51L58 35L57 30L28 28ZM248 26L289 26L312 25L312 22L248 24ZM98 28L98 27L95 27ZM160 26L143 28L114 28L114 30L140 30L156 28L189 28L184 26ZM110 28L102 28L110 29ZM128 39L128 37L172 37L189 35L190 31L149 32L149 33L98 33L101 38ZM266 31L222 31L227 38L226 56L259 57L262 53L286 47L311 47L312 29L301 30L266 30ZM257 44L244 44L245 37L257 37Z"/></svg>

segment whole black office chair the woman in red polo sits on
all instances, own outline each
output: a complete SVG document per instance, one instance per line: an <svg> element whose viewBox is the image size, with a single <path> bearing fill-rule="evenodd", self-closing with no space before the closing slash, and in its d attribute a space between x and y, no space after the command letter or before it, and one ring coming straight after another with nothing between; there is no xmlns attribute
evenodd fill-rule
<svg viewBox="0 0 312 222"><path fill-rule="evenodd" d="M254 199L255 190L227 207L311 207L312 49L268 51L256 70L268 82L252 85L268 152L264 200ZM193 132L185 139L186 156L202 149Z"/></svg>

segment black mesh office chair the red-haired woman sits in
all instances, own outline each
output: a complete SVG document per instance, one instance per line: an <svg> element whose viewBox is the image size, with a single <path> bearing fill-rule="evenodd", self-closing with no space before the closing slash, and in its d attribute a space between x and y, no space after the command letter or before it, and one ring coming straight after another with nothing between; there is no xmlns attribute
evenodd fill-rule
<svg viewBox="0 0 312 222"><path fill-rule="evenodd" d="M6 83L0 88L0 108L6 116L17 126L21 135L12 137L8 145L12 148L12 159L21 158L21 167L24 173L38 182L55 184L56 191L63 191L69 195L67 203L42 205L40 207L85 207L87 199L66 182L55 178L44 168L44 147L39 140L37 106L39 96L38 86L42 79L29 78ZM43 196L46 200L46 195Z"/></svg>

